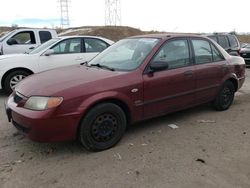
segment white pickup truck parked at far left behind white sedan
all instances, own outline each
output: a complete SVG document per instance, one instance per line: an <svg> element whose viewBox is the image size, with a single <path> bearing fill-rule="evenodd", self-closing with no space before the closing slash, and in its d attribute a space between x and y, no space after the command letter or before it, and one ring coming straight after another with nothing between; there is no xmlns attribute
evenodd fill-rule
<svg viewBox="0 0 250 188"><path fill-rule="evenodd" d="M0 55L29 52L55 37L53 29L16 29L0 38Z"/></svg>

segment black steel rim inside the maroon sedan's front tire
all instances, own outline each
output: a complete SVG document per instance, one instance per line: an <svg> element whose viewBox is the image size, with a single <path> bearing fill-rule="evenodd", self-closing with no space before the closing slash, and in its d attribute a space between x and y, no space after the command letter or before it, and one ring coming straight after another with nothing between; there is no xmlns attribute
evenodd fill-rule
<svg viewBox="0 0 250 188"><path fill-rule="evenodd" d="M117 118L113 114L97 116L92 124L92 136L97 142L107 142L114 138L117 131Z"/></svg>

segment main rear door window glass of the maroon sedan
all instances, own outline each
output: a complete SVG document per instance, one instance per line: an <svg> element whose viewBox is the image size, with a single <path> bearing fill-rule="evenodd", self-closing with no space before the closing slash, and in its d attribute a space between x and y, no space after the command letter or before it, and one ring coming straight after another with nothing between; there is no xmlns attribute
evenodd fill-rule
<svg viewBox="0 0 250 188"><path fill-rule="evenodd" d="M213 61L213 54L208 41L193 39L192 44L194 47L196 64L210 63Z"/></svg>

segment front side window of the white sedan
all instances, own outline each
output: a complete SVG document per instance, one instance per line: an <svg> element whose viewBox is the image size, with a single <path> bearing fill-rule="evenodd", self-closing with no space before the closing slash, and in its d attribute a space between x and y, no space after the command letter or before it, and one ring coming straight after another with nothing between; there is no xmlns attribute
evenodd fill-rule
<svg viewBox="0 0 250 188"><path fill-rule="evenodd" d="M52 47L52 49L54 50L54 54L80 53L81 39L76 38L63 40Z"/></svg>

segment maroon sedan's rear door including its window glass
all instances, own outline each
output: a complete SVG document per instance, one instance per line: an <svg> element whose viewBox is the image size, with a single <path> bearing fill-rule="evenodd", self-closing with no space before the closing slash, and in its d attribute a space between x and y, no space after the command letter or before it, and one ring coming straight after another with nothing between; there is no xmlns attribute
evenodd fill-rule
<svg viewBox="0 0 250 188"><path fill-rule="evenodd" d="M196 102L214 99L223 77L228 73L228 64L219 50L203 38L191 39L195 59Z"/></svg>

